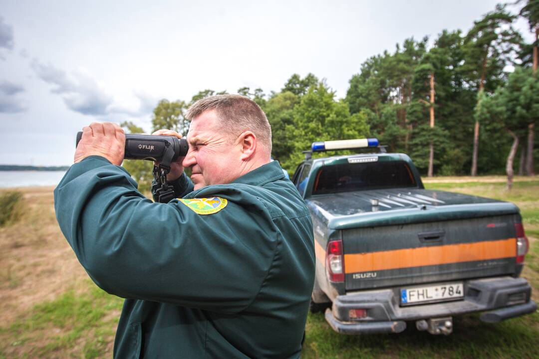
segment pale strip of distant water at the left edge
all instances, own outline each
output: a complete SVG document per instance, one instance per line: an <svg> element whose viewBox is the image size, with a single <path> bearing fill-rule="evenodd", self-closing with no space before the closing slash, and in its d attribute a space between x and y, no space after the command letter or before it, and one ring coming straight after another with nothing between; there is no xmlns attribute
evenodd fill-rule
<svg viewBox="0 0 539 359"><path fill-rule="evenodd" d="M56 186L66 171L0 171L0 188Z"/></svg>

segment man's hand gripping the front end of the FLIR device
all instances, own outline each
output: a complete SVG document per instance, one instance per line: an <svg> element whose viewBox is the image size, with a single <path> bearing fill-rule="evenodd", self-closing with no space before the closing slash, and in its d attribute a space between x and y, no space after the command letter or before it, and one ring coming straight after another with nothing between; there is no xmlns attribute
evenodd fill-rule
<svg viewBox="0 0 539 359"><path fill-rule="evenodd" d="M82 129L77 150L75 150L75 163L88 156L102 156L114 165L120 166L126 148L126 135L116 123L92 122Z"/></svg>

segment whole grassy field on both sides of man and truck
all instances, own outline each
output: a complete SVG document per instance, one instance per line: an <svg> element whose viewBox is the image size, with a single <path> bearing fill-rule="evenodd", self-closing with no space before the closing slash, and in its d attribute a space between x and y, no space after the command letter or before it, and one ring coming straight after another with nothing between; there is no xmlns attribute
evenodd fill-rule
<svg viewBox="0 0 539 359"><path fill-rule="evenodd" d="M526 277L539 300L539 177L436 178L429 189L516 203L531 249ZM0 358L112 357L122 300L97 288L81 268L54 219L52 188L24 188L23 216L0 228ZM304 358L539 358L539 313L497 325L478 315L454 318L450 336L339 335L322 314L309 314Z"/></svg>

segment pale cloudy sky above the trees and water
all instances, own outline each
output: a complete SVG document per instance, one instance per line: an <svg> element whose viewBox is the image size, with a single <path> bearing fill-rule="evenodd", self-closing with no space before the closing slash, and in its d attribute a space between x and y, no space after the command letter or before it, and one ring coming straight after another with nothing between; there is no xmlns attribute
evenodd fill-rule
<svg viewBox="0 0 539 359"><path fill-rule="evenodd" d="M160 99L204 89L269 93L310 72L344 97L369 57L406 38L466 32L495 4L0 0L0 164L71 165L83 126L149 131ZM533 41L524 20L516 27Z"/></svg>

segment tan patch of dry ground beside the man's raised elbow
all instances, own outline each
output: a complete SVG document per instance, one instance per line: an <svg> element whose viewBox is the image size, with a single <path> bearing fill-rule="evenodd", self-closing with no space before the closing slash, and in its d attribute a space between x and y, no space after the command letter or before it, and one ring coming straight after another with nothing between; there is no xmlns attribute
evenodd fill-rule
<svg viewBox="0 0 539 359"><path fill-rule="evenodd" d="M4 325L88 278L58 227L52 190L9 189L23 192L24 216L0 229L0 322Z"/></svg>

